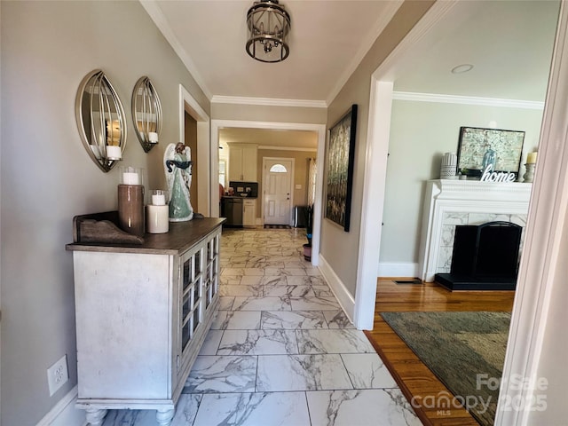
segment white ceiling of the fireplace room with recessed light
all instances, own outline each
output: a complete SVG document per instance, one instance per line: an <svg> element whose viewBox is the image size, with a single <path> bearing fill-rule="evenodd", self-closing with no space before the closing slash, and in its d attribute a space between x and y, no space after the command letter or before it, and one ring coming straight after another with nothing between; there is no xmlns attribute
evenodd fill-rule
<svg viewBox="0 0 568 426"><path fill-rule="evenodd" d="M461 1L391 76L395 91L543 102L559 2ZM471 64L465 74L452 68Z"/></svg>

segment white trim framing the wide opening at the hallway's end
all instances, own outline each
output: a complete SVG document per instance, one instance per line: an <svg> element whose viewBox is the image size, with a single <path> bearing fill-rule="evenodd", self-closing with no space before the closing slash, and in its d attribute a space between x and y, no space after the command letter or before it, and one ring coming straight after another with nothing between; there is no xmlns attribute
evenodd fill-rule
<svg viewBox="0 0 568 426"><path fill-rule="evenodd" d="M323 197L323 158L326 151L326 125L325 124L310 124L304 122L253 122L242 120L211 120L211 150L213 147L216 149L215 158L211 153L212 166L211 173L217 173L215 178L218 180L218 146L219 146L219 129L225 127L237 128L250 128L250 129L274 129L274 130L312 130L318 134L318 154L317 158L321 161L316 162L316 199L313 204L313 232L312 232L312 265L319 264L319 241L321 239L321 212L322 212L322 197ZM217 166L216 166L217 162ZM217 186L216 186L217 187ZM211 209L217 209L218 217L218 204L219 192L211 192Z"/></svg>

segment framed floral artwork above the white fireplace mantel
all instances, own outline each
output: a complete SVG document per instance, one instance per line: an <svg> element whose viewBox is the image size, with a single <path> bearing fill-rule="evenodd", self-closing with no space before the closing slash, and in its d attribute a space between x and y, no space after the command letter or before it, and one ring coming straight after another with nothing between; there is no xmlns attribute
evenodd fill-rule
<svg viewBox="0 0 568 426"><path fill-rule="evenodd" d="M458 142L458 171L480 177L488 164L496 172L515 173L521 165L525 131L461 127Z"/></svg>

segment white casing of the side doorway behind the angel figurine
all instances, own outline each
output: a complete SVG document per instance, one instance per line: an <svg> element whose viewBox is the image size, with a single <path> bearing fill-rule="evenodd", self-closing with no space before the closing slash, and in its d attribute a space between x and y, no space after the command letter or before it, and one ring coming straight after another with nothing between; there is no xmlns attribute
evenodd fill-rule
<svg viewBox="0 0 568 426"><path fill-rule="evenodd" d="M179 84L179 141L185 140L185 112L190 114L197 122L197 154L192 153L195 162L199 162L198 177L197 177L197 205L199 206L199 213L204 216L212 216L211 212L211 193L217 193L219 197L219 165L218 155L217 162L214 162L213 150L210 144L210 131L209 131L209 115L193 98L191 93L185 89L183 84ZM216 165L213 170L213 165ZM213 178L215 177L215 178ZM217 201L218 206L218 201ZM218 210L218 207L217 207ZM217 214L218 216L218 214Z"/></svg>

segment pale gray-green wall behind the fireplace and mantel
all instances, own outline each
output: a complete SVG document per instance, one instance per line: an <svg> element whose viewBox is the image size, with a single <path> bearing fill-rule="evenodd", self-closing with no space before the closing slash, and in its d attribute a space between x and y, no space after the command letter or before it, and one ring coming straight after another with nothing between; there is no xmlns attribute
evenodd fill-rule
<svg viewBox="0 0 568 426"><path fill-rule="evenodd" d="M457 153L461 126L486 128L492 121L497 129L525 130L524 164L538 146L540 110L393 101L379 263L419 261L425 182L440 177L444 153Z"/></svg>

